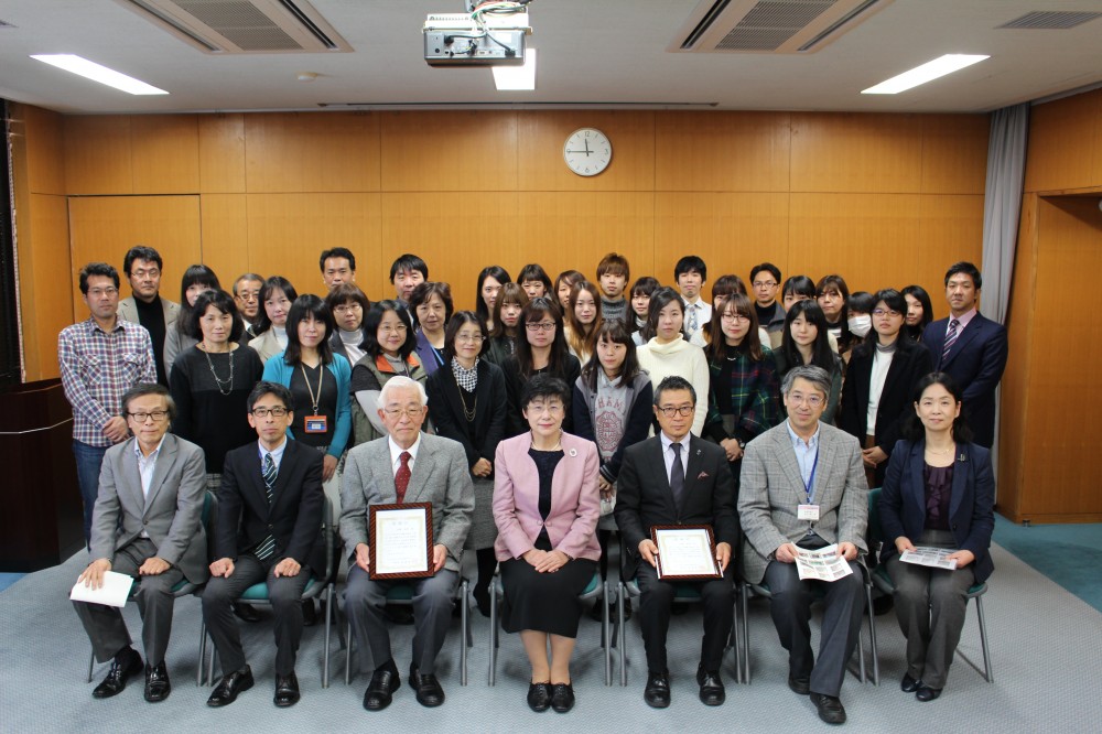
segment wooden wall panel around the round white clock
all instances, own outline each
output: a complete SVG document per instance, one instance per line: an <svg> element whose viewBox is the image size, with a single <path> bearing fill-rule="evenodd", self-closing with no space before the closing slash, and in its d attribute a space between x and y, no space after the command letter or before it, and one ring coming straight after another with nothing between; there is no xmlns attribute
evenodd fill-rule
<svg viewBox="0 0 1102 734"><path fill-rule="evenodd" d="M613 144L604 173L580 176L563 161L566 137L597 128ZM655 187L655 114L563 110L518 114L520 191L651 191Z"/></svg>

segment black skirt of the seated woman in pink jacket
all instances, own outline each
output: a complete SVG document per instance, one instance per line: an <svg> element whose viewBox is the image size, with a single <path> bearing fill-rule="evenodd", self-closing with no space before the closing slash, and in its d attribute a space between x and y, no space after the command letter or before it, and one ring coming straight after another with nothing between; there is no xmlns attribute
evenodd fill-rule
<svg viewBox="0 0 1102 734"><path fill-rule="evenodd" d="M585 591L597 570L596 561L574 559L554 573L539 573L523 559L501 563L501 628L507 633L522 629L577 637Z"/></svg>

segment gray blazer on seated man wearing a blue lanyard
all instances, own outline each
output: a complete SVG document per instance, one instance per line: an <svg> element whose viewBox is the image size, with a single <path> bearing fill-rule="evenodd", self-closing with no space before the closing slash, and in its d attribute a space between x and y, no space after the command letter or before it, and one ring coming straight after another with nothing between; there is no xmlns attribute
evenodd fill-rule
<svg viewBox="0 0 1102 734"><path fill-rule="evenodd" d="M759 583L776 550L800 540L808 531L808 521L797 519L797 508L807 504L807 495L788 421L746 444L739 477L738 515L745 537L743 578ZM819 505L815 533L829 543L851 542L867 553L868 488L861 445L845 431L822 421L814 498Z"/></svg>

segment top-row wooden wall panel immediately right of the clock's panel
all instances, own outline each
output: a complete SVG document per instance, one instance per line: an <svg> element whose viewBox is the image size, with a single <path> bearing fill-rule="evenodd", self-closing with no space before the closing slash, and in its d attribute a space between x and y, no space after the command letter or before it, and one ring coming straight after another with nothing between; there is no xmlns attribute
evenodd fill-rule
<svg viewBox="0 0 1102 734"><path fill-rule="evenodd" d="M787 192L788 112L663 112L655 142L659 191Z"/></svg>

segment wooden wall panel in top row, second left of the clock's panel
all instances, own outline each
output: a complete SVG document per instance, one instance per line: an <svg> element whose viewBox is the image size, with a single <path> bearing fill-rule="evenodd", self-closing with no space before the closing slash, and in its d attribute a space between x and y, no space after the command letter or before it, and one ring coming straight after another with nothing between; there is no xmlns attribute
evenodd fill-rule
<svg viewBox="0 0 1102 734"><path fill-rule="evenodd" d="M246 116L248 192L378 191L378 126L370 112Z"/></svg>

